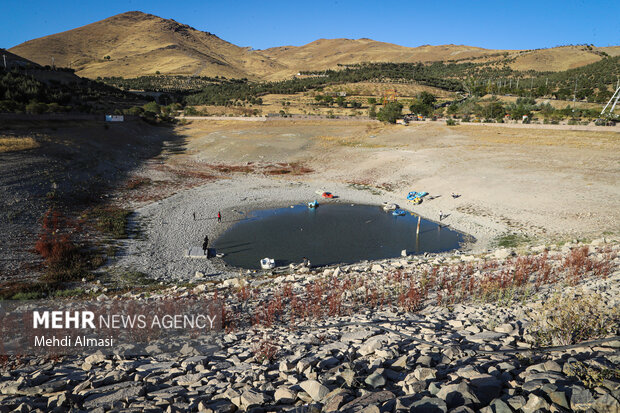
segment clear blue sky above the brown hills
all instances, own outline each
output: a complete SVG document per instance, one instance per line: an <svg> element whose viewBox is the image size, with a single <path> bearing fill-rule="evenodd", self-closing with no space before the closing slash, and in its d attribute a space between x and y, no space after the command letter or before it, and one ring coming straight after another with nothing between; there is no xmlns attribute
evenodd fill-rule
<svg viewBox="0 0 620 413"><path fill-rule="evenodd" d="M0 4L0 47L6 48L130 10L171 18L256 49L340 37L411 47L620 45L620 0L0 0Z"/></svg>

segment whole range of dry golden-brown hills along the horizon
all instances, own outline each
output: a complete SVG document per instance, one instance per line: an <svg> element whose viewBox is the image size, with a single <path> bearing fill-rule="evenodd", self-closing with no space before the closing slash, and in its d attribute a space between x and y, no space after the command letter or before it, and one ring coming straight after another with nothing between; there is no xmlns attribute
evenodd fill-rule
<svg viewBox="0 0 620 413"><path fill-rule="evenodd" d="M280 80L304 70L363 62L497 62L517 70L561 71L618 55L620 47L565 46L490 50L464 45L404 47L371 39L319 39L303 46L254 51L174 20L139 11L30 40L11 52L80 76L180 74Z"/></svg>

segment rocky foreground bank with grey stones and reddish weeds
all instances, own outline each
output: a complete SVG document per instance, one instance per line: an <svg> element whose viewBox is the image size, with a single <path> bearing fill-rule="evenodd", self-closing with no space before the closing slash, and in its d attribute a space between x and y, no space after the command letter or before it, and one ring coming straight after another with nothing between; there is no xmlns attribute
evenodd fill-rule
<svg viewBox="0 0 620 413"><path fill-rule="evenodd" d="M0 412L617 412L619 251L600 239L100 294L217 295L226 330L208 355L4 359ZM584 297L605 331L551 328Z"/></svg>

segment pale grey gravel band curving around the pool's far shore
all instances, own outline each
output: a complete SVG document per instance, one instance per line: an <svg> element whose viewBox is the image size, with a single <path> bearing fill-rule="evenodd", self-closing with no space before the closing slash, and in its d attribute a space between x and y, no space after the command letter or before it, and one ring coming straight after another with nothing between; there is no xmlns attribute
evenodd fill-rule
<svg viewBox="0 0 620 413"><path fill-rule="evenodd" d="M239 269L226 266L221 259L192 259L185 254L190 247L200 247L205 235L212 243L252 210L303 204L319 198L315 193L317 190L328 190L338 196L337 199L320 202L368 205L395 202L431 221L438 220L439 210L442 209L444 214L449 214L443 224L476 239L475 243L466 247L473 252L488 250L492 240L508 230L490 220L466 216L456 208L451 210L440 206L438 200L411 205L405 199L406 193L390 193L374 188L371 192L335 182L243 176L189 189L137 209L133 220L140 226L142 235L125 242L123 256L114 266L170 281L192 279L197 271L203 272L206 277L238 275ZM381 194L377 195L379 192ZM452 200L449 194L441 195L443 201L448 198ZM218 211L222 213L222 223L217 222Z"/></svg>

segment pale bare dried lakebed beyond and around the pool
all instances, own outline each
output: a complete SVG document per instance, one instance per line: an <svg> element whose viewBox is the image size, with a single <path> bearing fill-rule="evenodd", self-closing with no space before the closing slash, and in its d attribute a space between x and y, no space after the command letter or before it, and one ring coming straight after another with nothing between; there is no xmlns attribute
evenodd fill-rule
<svg viewBox="0 0 620 413"><path fill-rule="evenodd" d="M613 131L270 120L192 121L177 133L186 150L139 170L149 185L119 195L138 208L144 238L128 251L137 254L131 264L147 272L187 277L204 270L188 267L183 250L234 222L210 219L220 209L230 217L306 202L318 189L342 202L397 202L432 220L442 211L446 225L476 238L473 251L505 234L538 243L620 230L620 134ZM188 168L196 179L169 184ZM277 168L285 171L268 172ZM412 190L434 199L411 205L405 197ZM205 219L191 222L193 211Z"/></svg>

